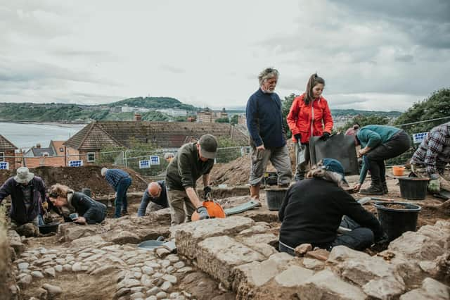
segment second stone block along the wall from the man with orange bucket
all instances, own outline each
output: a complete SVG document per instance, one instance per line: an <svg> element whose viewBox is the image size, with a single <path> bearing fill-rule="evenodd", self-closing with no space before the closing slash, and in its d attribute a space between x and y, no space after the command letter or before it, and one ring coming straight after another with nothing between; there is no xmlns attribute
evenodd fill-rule
<svg viewBox="0 0 450 300"><path fill-rule="evenodd" d="M209 237L198 244L198 268L222 282L226 288L233 283L233 268L264 259L262 254L227 236Z"/></svg>

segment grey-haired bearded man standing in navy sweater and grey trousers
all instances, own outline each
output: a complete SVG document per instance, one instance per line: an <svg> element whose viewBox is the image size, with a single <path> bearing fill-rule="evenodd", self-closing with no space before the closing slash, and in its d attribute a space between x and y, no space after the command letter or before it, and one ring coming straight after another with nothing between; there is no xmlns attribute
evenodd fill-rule
<svg viewBox="0 0 450 300"><path fill-rule="evenodd" d="M274 92L279 73L266 68L259 73L259 89L250 96L245 115L252 145L250 196L259 201L259 185L267 163L271 161L278 174L278 185L290 184L292 170L284 136L281 100Z"/></svg>

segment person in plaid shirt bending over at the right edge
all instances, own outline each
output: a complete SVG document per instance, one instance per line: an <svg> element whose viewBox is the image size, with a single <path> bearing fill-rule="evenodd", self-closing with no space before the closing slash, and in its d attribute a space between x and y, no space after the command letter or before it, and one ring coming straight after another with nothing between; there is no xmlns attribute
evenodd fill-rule
<svg viewBox="0 0 450 300"><path fill-rule="evenodd" d="M434 127L420 143L411 158L411 170L418 177L430 177L428 190L439 193L441 187L450 191L450 122Z"/></svg>

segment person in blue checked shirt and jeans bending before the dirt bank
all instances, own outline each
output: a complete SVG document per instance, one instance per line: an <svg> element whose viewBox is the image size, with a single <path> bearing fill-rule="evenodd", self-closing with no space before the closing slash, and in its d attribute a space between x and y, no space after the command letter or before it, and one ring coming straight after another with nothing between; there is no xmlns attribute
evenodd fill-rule
<svg viewBox="0 0 450 300"><path fill-rule="evenodd" d="M116 193L114 218L120 218L121 211L122 215L126 215L128 213L127 190L131 185L131 177L124 170L108 168L102 168L101 175Z"/></svg>

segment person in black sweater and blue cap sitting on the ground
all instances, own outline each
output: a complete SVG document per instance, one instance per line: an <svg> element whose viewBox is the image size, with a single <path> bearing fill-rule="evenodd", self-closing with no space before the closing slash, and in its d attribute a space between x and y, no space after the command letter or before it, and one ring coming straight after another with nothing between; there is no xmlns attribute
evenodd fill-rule
<svg viewBox="0 0 450 300"><path fill-rule="evenodd" d="M280 251L294 255L300 244L327 250L338 245L362 250L383 237L375 215L342 189L348 184L339 161L323 158L306 178L288 189L278 211ZM349 231L338 235L340 226Z"/></svg>

